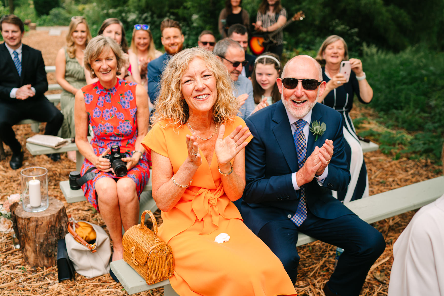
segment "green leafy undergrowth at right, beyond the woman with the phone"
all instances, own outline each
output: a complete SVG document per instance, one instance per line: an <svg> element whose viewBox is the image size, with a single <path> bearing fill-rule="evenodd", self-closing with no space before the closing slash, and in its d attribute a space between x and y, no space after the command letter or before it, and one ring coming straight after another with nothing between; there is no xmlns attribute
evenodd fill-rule
<svg viewBox="0 0 444 296"><path fill-rule="evenodd" d="M365 44L363 52L364 71L374 91L369 106L378 111L379 121L417 132L412 138L387 132L381 134L381 143L392 148L400 143L406 147L401 152L439 161L444 137L444 52L417 45L395 54Z"/></svg>

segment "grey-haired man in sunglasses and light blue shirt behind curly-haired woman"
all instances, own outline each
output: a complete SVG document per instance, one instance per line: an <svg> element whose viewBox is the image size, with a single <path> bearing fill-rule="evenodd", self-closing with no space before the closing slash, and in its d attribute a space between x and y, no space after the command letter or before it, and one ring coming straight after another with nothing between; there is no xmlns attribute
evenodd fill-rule
<svg viewBox="0 0 444 296"><path fill-rule="evenodd" d="M214 46L217 55L225 65L233 82L233 95L238 99L238 116L245 120L254 110L253 85L250 79L241 75L248 61L243 48L236 41L225 38Z"/></svg>

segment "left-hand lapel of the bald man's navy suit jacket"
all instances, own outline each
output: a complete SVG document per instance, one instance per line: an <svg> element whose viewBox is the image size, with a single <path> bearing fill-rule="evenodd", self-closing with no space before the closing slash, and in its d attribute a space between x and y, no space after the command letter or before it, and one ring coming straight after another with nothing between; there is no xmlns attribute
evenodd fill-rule
<svg viewBox="0 0 444 296"><path fill-rule="evenodd" d="M297 154L296 147L294 146L293 136L291 134L291 127L288 121L287 113L285 112L284 104L279 101L276 103L276 109L273 114L273 121L276 123L272 127L274 137L279 145L279 148L284 154L285 161L287 162L290 170L296 172L297 166Z"/></svg>

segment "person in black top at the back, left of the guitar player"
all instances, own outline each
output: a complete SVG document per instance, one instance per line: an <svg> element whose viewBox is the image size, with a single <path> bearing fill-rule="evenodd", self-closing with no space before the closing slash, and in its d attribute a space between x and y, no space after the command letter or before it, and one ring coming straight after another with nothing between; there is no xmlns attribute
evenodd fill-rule
<svg viewBox="0 0 444 296"><path fill-rule="evenodd" d="M223 38L228 37L228 29L231 25L242 24L249 28L250 16L248 12L241 7L242 0L226 0L225 8L219 14L219 33Z"/></svg>

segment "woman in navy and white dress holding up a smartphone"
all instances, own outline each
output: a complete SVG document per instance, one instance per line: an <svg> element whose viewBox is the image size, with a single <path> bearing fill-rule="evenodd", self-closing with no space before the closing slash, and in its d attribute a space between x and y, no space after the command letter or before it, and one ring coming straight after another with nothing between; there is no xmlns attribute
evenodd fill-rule
<svg viewBox="0 0 444 296"><path fill-rule="evenodd" d="M361 103L370 103L373 90L370 87L365 72L362 71L360 59L349 59L347 43L340 36L327 37L317 52L316 60L322 67L322 79L327 82L324 93L317 101L337 110L344 116L345 152L349 163L351 180L346 191L333 192L340 201L349 202L369 196L369 181L365 167L361 143L356 135L350 110L353 107L353 95L356 94ZM349 61L351 72L347 82L341 73L341 62Z"/></svg>

